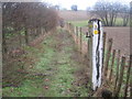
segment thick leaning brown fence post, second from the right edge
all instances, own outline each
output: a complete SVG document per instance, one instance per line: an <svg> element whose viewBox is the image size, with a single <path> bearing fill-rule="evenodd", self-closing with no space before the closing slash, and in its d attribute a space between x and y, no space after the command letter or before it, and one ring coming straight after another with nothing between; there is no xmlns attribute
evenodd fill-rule
<svg viewBox="0 0 132 99"><path fill-rule="evenodd" d="M124 65L125 65L125 57L122 56L122 59L121 59L121 69L120 69L120 76L119 76L119 82L118 82L118 86L117 86L117 89L116 89L116 94L113 94L114 97L118 97L119 94L120 94L120 89L121 89L121 85L122 85L122 80L123 80Z"/></svg>

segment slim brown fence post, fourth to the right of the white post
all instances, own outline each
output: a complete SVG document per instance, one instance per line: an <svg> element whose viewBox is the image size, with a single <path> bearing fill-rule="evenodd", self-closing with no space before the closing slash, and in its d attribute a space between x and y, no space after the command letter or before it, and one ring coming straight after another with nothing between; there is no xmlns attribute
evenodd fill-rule
<svg viewBox="0 0 132 99"><path fill-rule="evenodd" d="M116 81L114 81L114 88L113 88L113 92L116 92L116 88L117 88L117 82L118 82L118 79L119 79L119 65L120 65L120 55L121 52L120 50L118 50L118 57L117 57L117 72L116 72Z"/></svg>

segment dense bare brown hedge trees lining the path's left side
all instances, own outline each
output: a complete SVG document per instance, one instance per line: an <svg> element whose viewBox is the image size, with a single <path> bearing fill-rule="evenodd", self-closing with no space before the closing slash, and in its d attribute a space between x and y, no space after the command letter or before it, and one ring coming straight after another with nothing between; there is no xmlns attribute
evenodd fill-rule
<svg viewBox="0 0 132 99"><path fill-rule="evenodd" d="M57 25L57 12L52 6L41 2L6 2L2 4L3 13L3 46L6 46L7 34L18 34L24 31L25 43L29 44L29 30L50 31ZM21 38L20 38L21 42ZM21 44L21 43L20 43ZM3 50L7 52L7 48Z"/></svg>

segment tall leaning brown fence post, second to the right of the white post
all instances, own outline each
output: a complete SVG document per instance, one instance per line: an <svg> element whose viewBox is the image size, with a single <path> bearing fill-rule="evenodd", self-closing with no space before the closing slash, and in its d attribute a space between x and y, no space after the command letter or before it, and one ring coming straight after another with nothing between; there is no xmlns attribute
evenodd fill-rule
<svg viewBox="0 0 132 99"><path fill-rule="evenodd" d="M109 38L109 41L108 41L108 50L107 50L107 57L106 57L106 62L105 62L105 79L107 78L111 48L112 48L112 38Z"/></svg>

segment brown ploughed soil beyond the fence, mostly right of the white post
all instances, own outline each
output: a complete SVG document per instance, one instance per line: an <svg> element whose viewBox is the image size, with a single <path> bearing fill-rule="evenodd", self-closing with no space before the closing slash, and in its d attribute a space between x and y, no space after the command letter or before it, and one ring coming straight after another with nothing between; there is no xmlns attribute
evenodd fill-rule
<svg viewBox="0 0 132 99"><path fill-rule="evenodd" d="M87 28L82 29L84 33L87 31ZM122 55L130 54L130 28L124 26L105 26L105 32L107 32L107 42L108 38L113 38L114 50L121 50Z"/></svg>

